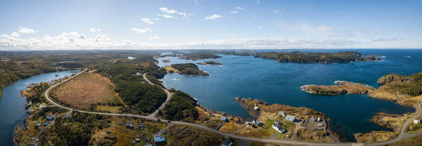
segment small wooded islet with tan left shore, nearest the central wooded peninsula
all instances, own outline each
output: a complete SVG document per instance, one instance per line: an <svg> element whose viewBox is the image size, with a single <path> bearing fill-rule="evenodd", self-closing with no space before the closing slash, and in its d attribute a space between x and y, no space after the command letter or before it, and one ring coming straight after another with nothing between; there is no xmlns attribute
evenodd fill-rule
<svg viewBox="0 0 422 146"><path fill-rule="evenodd" d="M181 75L208 76L208 73L201 71L193 63L172 64L165 67L168 73L179 73Z"/></svg>

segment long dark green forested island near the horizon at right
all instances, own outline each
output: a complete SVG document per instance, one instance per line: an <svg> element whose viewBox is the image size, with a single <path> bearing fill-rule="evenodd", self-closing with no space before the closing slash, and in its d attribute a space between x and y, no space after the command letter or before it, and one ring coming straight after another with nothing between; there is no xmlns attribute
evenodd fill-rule
<svg viewBox="0 0 422 146"><path fill-rule="evenodd" d="M309 52L267 52L254 55L254 57L275 59L279 62L294 63L348 63L352 61L381 61L378 55L362 55L354 51L338 53L309 53Z"/></svg>

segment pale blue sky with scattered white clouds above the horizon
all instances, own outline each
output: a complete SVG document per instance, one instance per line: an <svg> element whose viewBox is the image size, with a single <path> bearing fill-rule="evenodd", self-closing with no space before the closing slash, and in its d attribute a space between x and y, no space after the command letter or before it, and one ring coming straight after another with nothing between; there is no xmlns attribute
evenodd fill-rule
<svg viewBox="0 0 422 146"><path fill-rule="evenodd" d="M1 50L422 48L422 0L0 0Z"/></svg>

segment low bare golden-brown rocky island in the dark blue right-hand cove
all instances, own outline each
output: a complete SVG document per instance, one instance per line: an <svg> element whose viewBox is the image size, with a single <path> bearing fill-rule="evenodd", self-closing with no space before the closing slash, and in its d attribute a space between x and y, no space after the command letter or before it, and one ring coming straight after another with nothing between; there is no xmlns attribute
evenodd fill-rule
<svg viewBox="0 0 422 146"><path fill-rule="evenodd" d="M323 85L306 85L301 89L308 93L322 95L340 95L340 94L367 94L368 91L375 90L374 87L362 83L353 83L349 81L335 81L340 85L323 86Z"/></svg>

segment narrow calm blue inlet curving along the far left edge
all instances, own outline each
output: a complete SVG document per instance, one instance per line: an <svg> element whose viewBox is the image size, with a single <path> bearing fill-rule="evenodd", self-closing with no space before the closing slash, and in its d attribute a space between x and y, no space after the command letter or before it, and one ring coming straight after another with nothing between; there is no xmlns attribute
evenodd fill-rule
<svg viewBox="0 0 422 146"><path fill-rule="evenodd" d="M23 126L22 119L28 116L24 108L26 99L20 96L21 90L27 89L26 86L30 83L48 82L79 71L40 74L31 78L22 79L4 88L3 95L0 99L0 146L14 145L13 128L18 124ZM59 74L59 76L55 76L56 74Z"/></svg>

